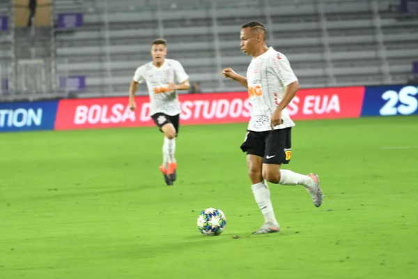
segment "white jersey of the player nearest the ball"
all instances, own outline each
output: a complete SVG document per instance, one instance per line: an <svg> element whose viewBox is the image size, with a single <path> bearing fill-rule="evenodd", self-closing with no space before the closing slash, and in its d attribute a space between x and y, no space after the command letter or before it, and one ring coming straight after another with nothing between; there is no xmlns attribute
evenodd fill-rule
<svg viewBox="0 0 418 279"><path fill-rule="evenodd" d="M286 86L295 81L297 77L286 56L272 47L251 60L247 70L249 103L252 106L248 130L271 130L271 116L283 99ZM286 108L281 111L281 119L283 124L274 126L274 129L295 126Z"/></svg>

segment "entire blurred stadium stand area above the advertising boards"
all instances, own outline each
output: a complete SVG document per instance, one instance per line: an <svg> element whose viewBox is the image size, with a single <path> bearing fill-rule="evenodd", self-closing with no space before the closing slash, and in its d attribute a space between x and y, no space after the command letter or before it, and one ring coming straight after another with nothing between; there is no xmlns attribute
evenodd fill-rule
<svg viewBox="0 0 418 279"><path fill-rule="evenodd" d="M242 90L219 73L245 74L239 32L253 20L302 88L417 83L417 10L417 0L2 0L0 101L127 96L155 38L191 91Z"/></svg>

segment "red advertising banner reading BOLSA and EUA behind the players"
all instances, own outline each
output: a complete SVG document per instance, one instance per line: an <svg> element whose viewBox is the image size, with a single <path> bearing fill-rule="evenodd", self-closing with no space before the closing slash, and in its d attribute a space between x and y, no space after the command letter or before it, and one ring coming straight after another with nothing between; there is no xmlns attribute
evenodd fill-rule
<svg viewBox="0 0 418 279"><path fill-rule="evenodd" d="M288 105L292 119L336 119L359 117L364 86L301 89ZM180 95L180 123L239 123L249 121L251 105L247 92ZM61 100L55 129L86 129L153 126L148 96L135 98L131 112L128 98Z"/></svg>

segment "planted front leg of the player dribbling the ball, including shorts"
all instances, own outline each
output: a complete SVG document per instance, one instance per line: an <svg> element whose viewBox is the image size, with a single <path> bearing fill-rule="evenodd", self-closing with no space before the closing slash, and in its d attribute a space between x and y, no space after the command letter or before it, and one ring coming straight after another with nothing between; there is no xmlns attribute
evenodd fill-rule
<svg viewBox="0 0 418 279"><path fill-rule="evenodd" d="M249 132L241 145L241 149L247 152L248 175L252 184L251 190L265 220L264 225L254 234L279 232L279 224L274 216L270 200L270 189L261 175L264 155L263 139L257 138L256 133Z"/></svg>

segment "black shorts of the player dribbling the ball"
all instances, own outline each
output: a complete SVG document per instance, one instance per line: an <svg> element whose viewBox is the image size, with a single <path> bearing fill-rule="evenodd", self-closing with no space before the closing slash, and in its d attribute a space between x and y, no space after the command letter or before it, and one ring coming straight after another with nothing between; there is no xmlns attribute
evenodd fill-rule
<svg viewBox="0 0 418 279"><path fill-rule="evenodd" d="M291 130L289 127L265 132L247 131L241 149L263 157L265 164L288 164L292 156Z"/></svg>

